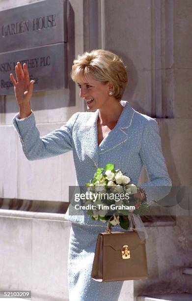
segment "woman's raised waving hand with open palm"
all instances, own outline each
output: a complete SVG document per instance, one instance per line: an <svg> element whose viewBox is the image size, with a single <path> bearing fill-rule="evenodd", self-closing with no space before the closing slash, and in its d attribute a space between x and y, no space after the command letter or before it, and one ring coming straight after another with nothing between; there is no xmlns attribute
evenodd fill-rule
<svg viewBox="0 0 192 301"><path fill-rule="evenodd" d="M34 81L29 79L27 64L24 63L22 68L21 63L17 62L15 72L17 81L12 73L10 74L10 79L14 85L17 102L19 105L28 104L32 96Z"/></svg>

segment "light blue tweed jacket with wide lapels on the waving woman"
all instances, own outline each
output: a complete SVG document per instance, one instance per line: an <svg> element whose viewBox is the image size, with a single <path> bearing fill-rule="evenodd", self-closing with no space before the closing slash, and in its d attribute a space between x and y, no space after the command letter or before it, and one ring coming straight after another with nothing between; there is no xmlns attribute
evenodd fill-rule
<svg viewBox="0 0 192 301"><path fill-rule="evenodd" d="M28 160L56 156L72 150L78 186L84 186L93 178L97 167L104 168L107 163L114 163L115 169L126 172L131 182L137 184L144 165L149 181L140 187L146 191L149 201L160 200L169 193L171 180L162 153L158 123L135 111L127 101L122 100L121 104L124 108L117 124L99 146L98 110L75 113L60 129L43 137L39 135L33 112L21 120L17 113L12 122ZM65 214L66 220L98 225L98 221L90 220L85 212L82 215L70 215L73 209L69 209Z"/></svg>

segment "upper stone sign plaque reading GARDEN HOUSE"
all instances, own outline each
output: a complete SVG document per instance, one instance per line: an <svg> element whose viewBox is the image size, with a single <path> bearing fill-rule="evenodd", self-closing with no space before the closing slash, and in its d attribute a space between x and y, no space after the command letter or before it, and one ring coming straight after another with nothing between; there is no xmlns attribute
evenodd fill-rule
<svg viewBox="0 0 192 301"><path fill-rule="evenodd" d="M0 53L60 42L67 42L65 0L0 11Z"/></svg>

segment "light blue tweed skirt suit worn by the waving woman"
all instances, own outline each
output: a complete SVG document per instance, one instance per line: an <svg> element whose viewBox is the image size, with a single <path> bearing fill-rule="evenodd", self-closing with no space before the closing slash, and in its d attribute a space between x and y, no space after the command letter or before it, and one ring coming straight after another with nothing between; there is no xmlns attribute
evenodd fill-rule
<svg viewBox="0 0 192 301"><path fill-rule="evenodd" d="M162 153L158 123L155 119L134 110L128 101L121 100L123 111L110 133L98 146L97 120L95 112L75 113L59 129L40 137L33 112L12 122L17 130L23 151L28 160L37 160L73 151L77 174L77 186L84 186L93 178L97 167L105 168L114 163L137 184L144 166L149 181L140 185L147 193L148 201L160 200L171 188ZM117 301L123 281L98 283L90 273L94 258L97 235L104 232L104 223L93 221L83 211L73 215L69 205L65 219L72 222L70 232L68 281L70 301ZM77 213L76 213L77 214ZM137 221L140 217L137 216ZM139 226L136 223L136 226ZM114 231L119 228L114 227ZM121 231L121 230L120 230Z"/></svg>

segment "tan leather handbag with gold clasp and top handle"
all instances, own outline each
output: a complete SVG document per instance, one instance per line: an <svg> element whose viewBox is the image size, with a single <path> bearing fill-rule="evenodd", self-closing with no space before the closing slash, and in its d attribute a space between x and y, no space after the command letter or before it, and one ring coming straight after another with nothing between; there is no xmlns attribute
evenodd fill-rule
<svg viewBox="0 0 192 301"><path fill-rule="evenodd" d="M146 279L146 241L141 241L132 215L133 231L105 233L97 238L91 277L98 282Z"/></svg>

